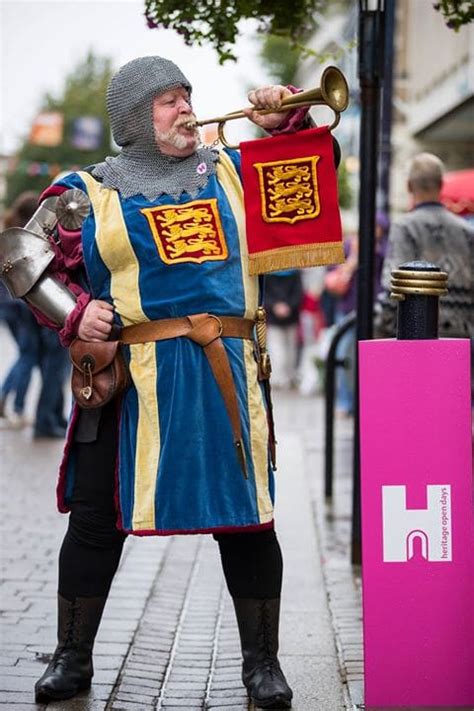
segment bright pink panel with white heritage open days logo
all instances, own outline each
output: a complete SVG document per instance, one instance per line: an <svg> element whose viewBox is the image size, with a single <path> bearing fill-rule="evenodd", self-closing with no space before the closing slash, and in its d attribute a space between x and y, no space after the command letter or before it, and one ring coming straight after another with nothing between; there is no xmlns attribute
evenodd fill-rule
<svg viewBox="0 0 474 711"><path fill-rule="evenodd" d="M470 343L359 357L365 705L474 707Z"/></svg>

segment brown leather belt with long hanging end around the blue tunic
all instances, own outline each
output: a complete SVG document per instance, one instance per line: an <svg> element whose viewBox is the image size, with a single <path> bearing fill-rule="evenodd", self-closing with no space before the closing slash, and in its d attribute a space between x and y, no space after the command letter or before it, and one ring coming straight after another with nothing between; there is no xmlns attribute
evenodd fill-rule
<svg viewBox="0 0 474 711"><path fill-rule="evenodd" d="M244 477L248 478L242 440L239 403L232 369L222 338L253 339L255 321L237 316L215 316L202 313L181 318L166 318L126 326L120 342L128 345L186 337L202 347L221 391L229 417L234 446Z"/></svg>

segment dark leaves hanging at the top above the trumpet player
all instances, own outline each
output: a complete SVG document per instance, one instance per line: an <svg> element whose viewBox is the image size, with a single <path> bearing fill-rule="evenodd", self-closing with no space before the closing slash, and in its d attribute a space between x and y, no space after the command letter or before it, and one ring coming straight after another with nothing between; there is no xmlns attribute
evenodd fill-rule
<svg viewBox="0 0 474 711"><path fill-rule="evenodd" d="M265 34L296 42L315 27L322 0L145 0L150 28L170 28L188 45L211 44L219 62L235 60L232 51L241 20L254 19Z"/></svg>

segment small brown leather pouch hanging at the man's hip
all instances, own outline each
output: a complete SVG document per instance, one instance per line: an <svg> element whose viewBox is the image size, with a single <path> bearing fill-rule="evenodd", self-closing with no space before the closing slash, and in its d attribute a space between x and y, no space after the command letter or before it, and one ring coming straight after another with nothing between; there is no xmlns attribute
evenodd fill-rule
<svg viewBox="0 0 474 711"><path fill-rule="evenodd" d="M130 384L118 341L90 342L76 338L69 346L69 355L72 393L79 407L102 407Z"/></svg>

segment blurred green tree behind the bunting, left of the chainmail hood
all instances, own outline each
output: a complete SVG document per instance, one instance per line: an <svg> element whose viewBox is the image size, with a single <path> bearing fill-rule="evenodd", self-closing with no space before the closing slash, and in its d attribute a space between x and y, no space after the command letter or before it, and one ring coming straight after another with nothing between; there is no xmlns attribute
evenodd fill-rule
<svg viewBox="0 0 474 711"><path fill-rule="evenodd" d="M16 169L7 175L7 205L24 190L41 191L51 182L50 175L29 175L32 163L57 165L60 170L87 166L110 153L110 129L105 93L112 76L109 59L89 53L65 79L62 96L46 94L40 111L59 111L64 116L63 141L56 147L35 146L28 139L16 156ZM73 122L80 116L95 116L103 122L102 142L97 150L78 150L71 143Z"/></svg>

